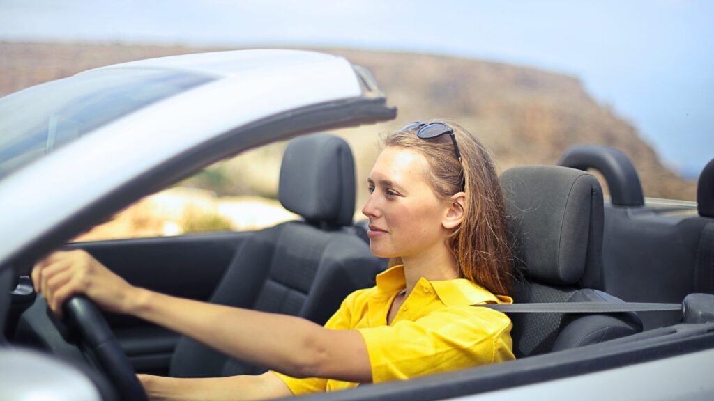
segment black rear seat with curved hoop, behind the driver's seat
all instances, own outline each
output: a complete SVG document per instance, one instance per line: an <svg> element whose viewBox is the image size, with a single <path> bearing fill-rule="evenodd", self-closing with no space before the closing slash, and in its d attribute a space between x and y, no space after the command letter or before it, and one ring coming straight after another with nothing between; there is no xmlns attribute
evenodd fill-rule
<svg viewBox="0 0 714 401"><path fill-rule="evenodd" d="M624 153L573 146L558 164L600 171L610 188L605 204L600 289L629 302L680 303L690 293L714 293L714 160L702 171L697 213L645 204L640 178ZM679 312L645 313L645 330L679 322Z"/></svg>

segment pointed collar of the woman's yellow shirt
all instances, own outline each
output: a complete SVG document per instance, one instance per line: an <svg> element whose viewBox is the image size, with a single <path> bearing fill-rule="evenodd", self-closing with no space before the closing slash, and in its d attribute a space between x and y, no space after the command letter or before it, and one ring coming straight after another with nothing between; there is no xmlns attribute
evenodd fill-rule
<svg viewBox="0 0 714 401"><path fill-rule="evenodd" d="M383 294L397 293L406 285L404 281L404 265L396 265L379 273L376 278L377 290ZM454 280L428 281L419 279L417 285L428 284L436 292L438 298L446 306L473 305L475 303L513 303L507 295L493 295L466 278Z"/></svg>

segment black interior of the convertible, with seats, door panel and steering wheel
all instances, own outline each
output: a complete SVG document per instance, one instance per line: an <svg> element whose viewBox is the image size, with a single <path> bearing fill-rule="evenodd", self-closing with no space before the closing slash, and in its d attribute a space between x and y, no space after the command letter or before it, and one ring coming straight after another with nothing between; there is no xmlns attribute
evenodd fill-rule
<svg viewBox="0 0 714 401"><path fill-rule="evenodd" d="M516 303L681 303L690 293L714 293L714 161L700 177L698 215L685 216L680 213L687 208L683 205L637 203L641 186L638 179L633 181L636 171L623 156L611 148L573 148L560 166L524 166L502 174L513 260L520 272L513 293ZM134 285L325 323L346 295L374 285L375 275L387 265L370 253L363 222L353 221L353 166L351 150L341 138L326 133L301 136L288 143L278 187L282 205L300 220L253 232L65 247L87 250ZM603 204L600 183L583 171L590 168L605 176L609 202ZM622 193L636 204L622 200ZM71 345L76 335L47 312L27 278L15 280L14 288L4 327L12 344L97 364L87 347ZM703 310L713 305L710 299L703 304ZM141 320L102 314L136 372L214 377L263 371ZM681 315L513 314L514 352L518 359L530 360L626 341L643 330L675 325ZM498 375L500 370L490 372ZM491 386L497 382L491 376Z"/></svg>

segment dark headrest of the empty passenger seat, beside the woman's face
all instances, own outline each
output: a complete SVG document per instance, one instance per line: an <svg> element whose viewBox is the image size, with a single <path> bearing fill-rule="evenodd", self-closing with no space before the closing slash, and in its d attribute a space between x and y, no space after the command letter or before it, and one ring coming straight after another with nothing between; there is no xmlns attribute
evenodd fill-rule
<svg viewBox="0 0 714 401"><path fill-rule="evenodd" d="M280 168L278 199L308 223L350 225L355 210L355 173L348 144L328 133L290 141Z"/></svg>

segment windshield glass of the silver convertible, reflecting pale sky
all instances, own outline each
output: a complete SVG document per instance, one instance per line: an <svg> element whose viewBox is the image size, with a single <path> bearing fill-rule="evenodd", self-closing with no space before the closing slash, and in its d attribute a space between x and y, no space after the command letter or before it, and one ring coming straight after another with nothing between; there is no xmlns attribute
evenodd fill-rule
<svg viewBox="0 0 714 401"><path fill-rule="evenodd" d="M211 81L177 71L112 68L0 99L0 179L139 108Z"/></svg>

